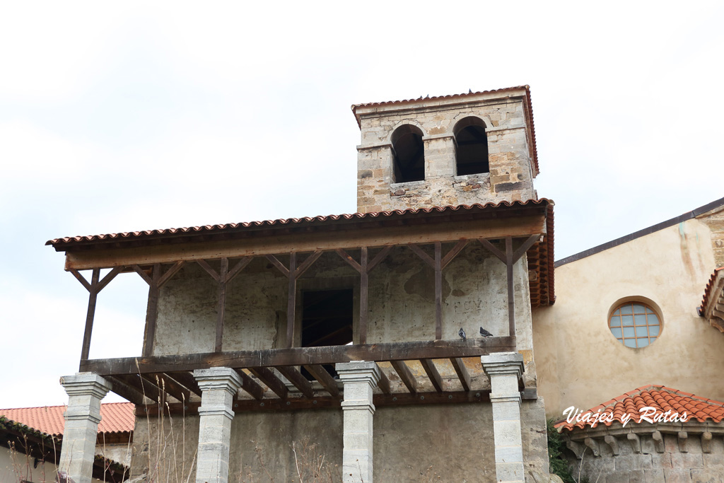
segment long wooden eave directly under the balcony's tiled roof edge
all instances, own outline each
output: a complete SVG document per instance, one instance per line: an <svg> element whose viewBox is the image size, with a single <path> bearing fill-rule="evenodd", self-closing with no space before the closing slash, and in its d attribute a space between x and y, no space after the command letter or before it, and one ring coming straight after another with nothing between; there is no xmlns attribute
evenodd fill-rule
<svg viewBox="0 0 724 483"><path fill-rule="evenodd" d="M68 245L66 270L105 269L122 266L148 266L177 261L195 261L243 256L265 256L278 253L306 253L361 247L382 247L453 242L460 239L499 239L506 236L523 238L547 232L547 205L521 207L516 210L488 212L486 216L452 214L426 219L399 219L394 224L366 222L343 225L320 225L313 229L259 230L253 236L222 234L220 236L188 236L154 238L146 243L96 243ZM492 215L492 216L491 216ZM392 221L392 220L390 220Z"/></svg>

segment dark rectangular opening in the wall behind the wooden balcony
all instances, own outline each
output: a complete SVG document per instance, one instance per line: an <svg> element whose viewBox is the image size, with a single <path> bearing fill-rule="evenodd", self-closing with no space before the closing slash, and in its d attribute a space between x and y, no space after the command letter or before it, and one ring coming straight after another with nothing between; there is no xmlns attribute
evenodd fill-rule
<svg viewBox="0 0 724 483"><path fill-rule="evenodd" d="M309 290L302 293L302 347L347 345L352 342L352 289ZM324 366L337 376L332 364ZM308 380L314 377L302 368Z"/></svg>

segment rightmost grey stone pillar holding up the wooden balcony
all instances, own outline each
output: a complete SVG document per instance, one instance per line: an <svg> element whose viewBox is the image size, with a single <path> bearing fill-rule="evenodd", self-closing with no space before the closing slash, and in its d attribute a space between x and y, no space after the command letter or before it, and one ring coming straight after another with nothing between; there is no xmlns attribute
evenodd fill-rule
<svg viewBox="0 0 724 483"><path fill-rule="evenodd" d="M518 381L523 376L523 356L500 352L482 356L481 362L492 389L496 481L523 483L521 392L518 390Z"/></svg>

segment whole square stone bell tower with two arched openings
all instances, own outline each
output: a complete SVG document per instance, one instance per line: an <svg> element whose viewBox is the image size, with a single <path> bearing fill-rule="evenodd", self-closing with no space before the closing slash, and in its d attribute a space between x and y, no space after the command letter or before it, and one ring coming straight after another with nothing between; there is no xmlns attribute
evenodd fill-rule
<svg viewBox="0 0 724 483"><path fill-rule="evenodd" d="M356 104L357 211L537 198L529 86Z"/></svg>

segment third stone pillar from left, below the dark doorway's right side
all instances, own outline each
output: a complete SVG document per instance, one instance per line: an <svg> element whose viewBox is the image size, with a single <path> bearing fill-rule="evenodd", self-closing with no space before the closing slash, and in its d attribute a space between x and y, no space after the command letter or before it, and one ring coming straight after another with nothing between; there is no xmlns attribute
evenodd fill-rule
<svg viewBox="0 0 724 483"><path fill-rule="evenodd" d="M336 364L344 385L342 401L342 482L372 483L372 390L379 382L374 362L354 361Z"/></svg>

